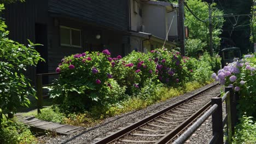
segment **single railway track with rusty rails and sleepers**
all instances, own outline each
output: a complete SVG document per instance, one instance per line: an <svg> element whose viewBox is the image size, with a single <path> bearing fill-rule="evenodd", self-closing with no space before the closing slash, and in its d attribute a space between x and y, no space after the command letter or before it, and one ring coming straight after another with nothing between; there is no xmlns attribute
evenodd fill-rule
<svg viewBox="0 0 256 144"><path fill-rule="evenodd" d="M213 85L176 104L164 107L150 116L120 128L94 144L105 143L167 143L193 122L210 106L212 97L219 94L219 85Z"/></svg>

